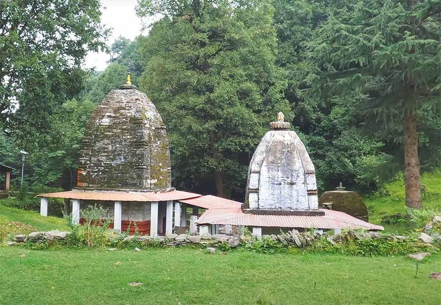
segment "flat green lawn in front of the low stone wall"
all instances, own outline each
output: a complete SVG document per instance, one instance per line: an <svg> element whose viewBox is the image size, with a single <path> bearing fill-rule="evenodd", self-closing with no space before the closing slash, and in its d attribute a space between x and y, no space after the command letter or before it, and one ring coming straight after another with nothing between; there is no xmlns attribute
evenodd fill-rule
<svg viewBox="0 0 441 305"><path fill-rule="evenodd" d="M440 304L441 256L0 248L0 304ZM130 287L130 282L141 286ZM314 289L314 286L315 289Z"/></svg>

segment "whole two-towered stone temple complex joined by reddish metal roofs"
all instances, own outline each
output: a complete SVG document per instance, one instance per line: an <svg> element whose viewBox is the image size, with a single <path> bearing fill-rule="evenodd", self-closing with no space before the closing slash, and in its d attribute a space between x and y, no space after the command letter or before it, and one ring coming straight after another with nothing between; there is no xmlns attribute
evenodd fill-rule
<svg viewBox="0 0 441 305"><path fill-rule="evenodd" d="M110 91L90 118L82 140L77 186L38 195L40 214L48 198L72 200L73 221L99 204L115 230L136 222L140 234L217 234L248 227L253 234L314 228L383 230L343 212L319 208L315 168L283 113L270 123L251 159L245 203L178 191L172 187L167 128L147 95L130 82ZM193 208L188 221L187 209ZM199 208L205 212L199 217ZM134 230L134 229L132 229Z"/></svg>

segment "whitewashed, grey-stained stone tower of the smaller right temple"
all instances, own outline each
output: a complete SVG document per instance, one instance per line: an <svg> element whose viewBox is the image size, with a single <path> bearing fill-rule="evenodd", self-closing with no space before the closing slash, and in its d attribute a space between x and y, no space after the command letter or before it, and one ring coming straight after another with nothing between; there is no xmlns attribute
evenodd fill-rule
<svg viewBox="0 0 441 305"><path fill-rule="evenodd" d="M253 154L248 168L244 210L318 209L314 165L298 135L279 113Z"/></svg>

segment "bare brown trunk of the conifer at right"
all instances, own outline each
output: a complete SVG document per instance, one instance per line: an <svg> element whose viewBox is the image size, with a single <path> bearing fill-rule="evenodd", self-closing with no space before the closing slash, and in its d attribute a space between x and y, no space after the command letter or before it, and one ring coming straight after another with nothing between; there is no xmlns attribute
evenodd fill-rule
<svg viewBox="0 0 441 305"><path fill-rule="evenodd" d="M406 185L406 206L421 209L417 112L411 108L404 109L404 183Z"/></svg>

